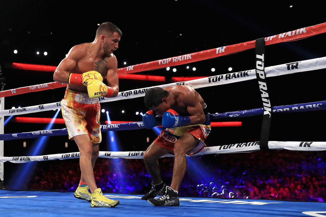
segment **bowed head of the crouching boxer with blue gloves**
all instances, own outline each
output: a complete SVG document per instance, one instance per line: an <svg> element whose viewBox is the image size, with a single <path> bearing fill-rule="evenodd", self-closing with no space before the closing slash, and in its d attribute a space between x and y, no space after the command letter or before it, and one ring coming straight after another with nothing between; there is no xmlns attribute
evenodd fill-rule
<svg viewBox="0 0 326 217"><path fill-rule="evenodd" d="M169 92L163 88L150 88L145 94L145 106L156 112L157 115L163 115L164 112L171 108L168 97Z"/></svg>

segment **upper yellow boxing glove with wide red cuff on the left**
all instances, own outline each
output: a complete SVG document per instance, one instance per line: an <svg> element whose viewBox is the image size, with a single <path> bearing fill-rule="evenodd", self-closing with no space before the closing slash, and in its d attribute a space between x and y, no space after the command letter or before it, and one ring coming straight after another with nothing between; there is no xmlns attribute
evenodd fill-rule
<svg viewBox="0 0 326 217"><path fill-rule="evenodd" d="M96 71L89 71L83 74L71 73L69 75L68 84L87 86L91 84L93 80L99 80L102 82L103 77Z"/></svg>

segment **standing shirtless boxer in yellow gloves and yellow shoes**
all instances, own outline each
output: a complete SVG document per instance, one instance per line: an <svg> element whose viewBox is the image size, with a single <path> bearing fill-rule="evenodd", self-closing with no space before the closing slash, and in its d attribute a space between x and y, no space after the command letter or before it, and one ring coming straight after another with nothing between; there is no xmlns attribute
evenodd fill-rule
<svg viewBox="0 0 326 217"><path fill-rule="evenodd" d="M116 97L119 92L113 51L118 49L121 35L114 24L102 23L95 40L72 47L53 75L54 81L67 84L61 111L69 139L75 140L80 151L82 174L74 197L91 202L91 207L115 207L120 203L103 196L96 186L93 168L102 140L98 97ZM105 77L108 86L102 82Z"/></svg>

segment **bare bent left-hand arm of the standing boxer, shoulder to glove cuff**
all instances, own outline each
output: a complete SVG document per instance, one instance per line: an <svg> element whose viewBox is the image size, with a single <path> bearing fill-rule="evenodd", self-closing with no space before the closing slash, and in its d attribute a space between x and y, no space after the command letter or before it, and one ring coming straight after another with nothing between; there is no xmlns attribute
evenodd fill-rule
<svg viewBox="0 0 326 217"><path fill-rule="evenodd" d="M63 59L53 74L53 80L68 84L69 71L73 70L79 60L85 56L85 47L76 45L72 47L65 59Z"/></svg>

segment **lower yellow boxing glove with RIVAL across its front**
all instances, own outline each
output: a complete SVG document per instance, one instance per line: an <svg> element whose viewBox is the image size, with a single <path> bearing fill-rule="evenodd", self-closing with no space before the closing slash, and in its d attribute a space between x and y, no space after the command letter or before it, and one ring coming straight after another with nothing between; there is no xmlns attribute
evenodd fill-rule
<svg viewBox="0 0 326 217"><path fill-rule="evenodd" d="M87 92L89 98L97 98L101 96L111 97L113 94L113 89L106 86L103 82L93 79L91 84L87 85Z"/></svg>

